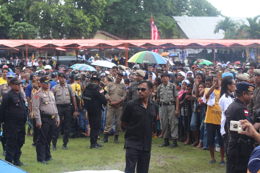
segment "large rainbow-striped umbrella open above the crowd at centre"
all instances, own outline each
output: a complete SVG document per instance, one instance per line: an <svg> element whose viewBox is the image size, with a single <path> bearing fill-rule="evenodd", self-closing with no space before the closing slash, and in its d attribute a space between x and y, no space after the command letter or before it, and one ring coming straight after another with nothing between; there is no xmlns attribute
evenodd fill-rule
<svg viewBox="0 0 260 173"><path fill-rule="evenodd" d="M167 61L158 53L151 51L142 51L133 55L127 62L129 63L147 63L147 64L166 64Z"/></svg>

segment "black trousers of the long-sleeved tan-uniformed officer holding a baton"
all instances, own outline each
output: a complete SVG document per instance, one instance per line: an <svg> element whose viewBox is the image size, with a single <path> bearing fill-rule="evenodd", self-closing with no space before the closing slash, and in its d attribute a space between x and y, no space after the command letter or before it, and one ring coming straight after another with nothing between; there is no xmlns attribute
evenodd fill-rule
<svg viewBox="0 0 260 173"><path fill-rule="evenodd" d="M49 146L51 145L51 139L55 128L55 118L47 119L42 117L42 127L38 129L38 138L36 141L36 153L37 161L43 161L51 158L51 151ZM45 140L45 138L47 140ZM49 146L48 146L49 145Z"/></svg>

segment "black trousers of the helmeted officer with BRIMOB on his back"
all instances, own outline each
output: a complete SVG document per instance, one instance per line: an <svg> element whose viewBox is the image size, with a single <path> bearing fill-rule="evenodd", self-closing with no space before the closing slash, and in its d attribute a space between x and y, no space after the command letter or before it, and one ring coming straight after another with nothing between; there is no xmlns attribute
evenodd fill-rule
<svg viewBox="0 0 260 173"><path fill-rule="evenodd" d="M101 116L102 112L88 111L88 121L90 125L90 145L95 146L97 144L97 138L101 128Z"/></svg>

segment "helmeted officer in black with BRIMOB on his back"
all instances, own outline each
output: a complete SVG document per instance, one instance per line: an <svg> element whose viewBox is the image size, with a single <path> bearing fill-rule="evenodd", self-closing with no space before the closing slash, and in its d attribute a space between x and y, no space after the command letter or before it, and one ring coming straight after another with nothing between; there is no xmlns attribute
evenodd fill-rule
<svg viewBox="0 0 260 173"><path fill-rule="evenodd" d="M89 83L83 91L84 106L87 108L90 125L90 149L103 146L97 142L101 128L102 105L107 105L107 99L103 93L99 82L101 76L94 72L91 74Z"/></svg>

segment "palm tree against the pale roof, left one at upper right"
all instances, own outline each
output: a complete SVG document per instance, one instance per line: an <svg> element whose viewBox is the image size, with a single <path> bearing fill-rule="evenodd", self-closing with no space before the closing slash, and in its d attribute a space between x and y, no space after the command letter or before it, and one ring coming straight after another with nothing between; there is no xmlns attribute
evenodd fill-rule
<svg viewBox="0 0 260 173"><path fill-rule="evenodd" d="M235 33L238 23L230 19L230 17L225 17L225 20L219 20L218 24L215 26L214 33L218 33L220 29L225 31L224 39L230 39Z"/></svg>

